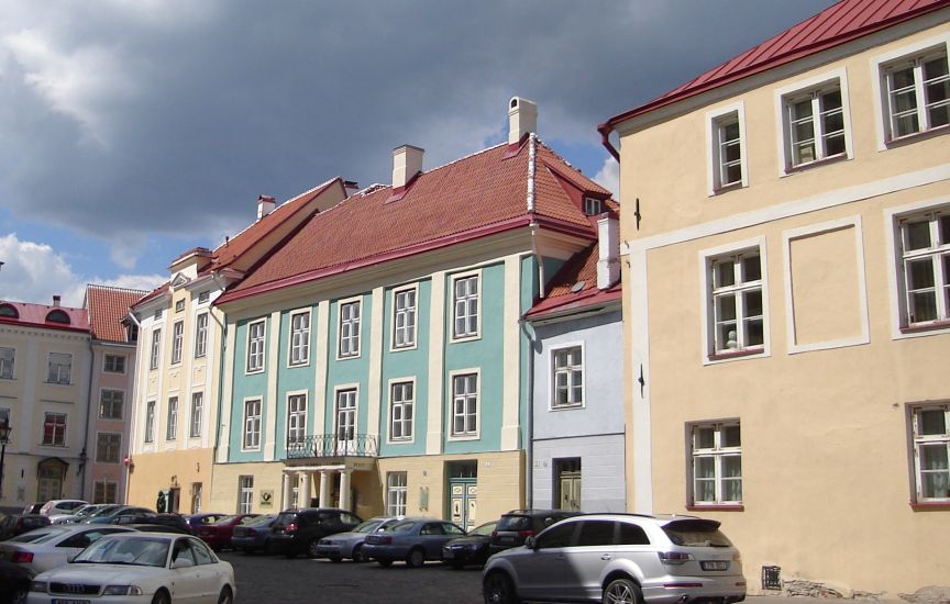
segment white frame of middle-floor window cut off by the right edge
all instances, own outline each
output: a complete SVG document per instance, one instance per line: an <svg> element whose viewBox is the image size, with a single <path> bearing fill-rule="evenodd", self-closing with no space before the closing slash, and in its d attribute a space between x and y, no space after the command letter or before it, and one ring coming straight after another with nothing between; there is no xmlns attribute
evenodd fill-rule
<svg viewBox="0 0 950 604"><path fill-rule="evenodd" d="M909 322L909 313L907 310L907 292L904 279L903 230L901 224L902 221L908 217L934 212L950 212L950 195L934 198L897 208L890 208L884 211L884 235L887 247L887 258L890 259L888 286L891 294L891 337L893 339L950 334L950 321L934 321L912 324ZM942 249L942 247L939 249ZM912 255L917 253L919 253L919 250L915 250ZM940 251L938 248L931 248L930 254L934 254L936 257ZM939 281L935 281L935 288L938 287ZM948 292L947 295L950 297L950 292ZM939 302L938 298L938 304Z"/></svg>

